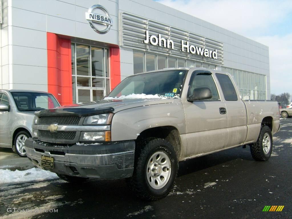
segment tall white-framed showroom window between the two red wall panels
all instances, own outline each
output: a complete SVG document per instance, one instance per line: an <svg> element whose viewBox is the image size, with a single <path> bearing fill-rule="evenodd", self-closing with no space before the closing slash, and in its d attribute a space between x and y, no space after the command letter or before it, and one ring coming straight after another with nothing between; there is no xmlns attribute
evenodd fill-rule
<svg viewBox="0 0 292 219"><path fill-rule="evenodd" d="M101 100L109 93L107 48L71 43L73 103Z"/></svg>

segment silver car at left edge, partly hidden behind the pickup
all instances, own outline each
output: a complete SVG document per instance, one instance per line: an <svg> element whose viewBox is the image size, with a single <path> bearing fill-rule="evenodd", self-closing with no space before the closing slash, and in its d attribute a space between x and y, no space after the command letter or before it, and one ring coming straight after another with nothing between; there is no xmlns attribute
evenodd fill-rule
<svg viewBox="0 0 292 219"><path fill-rule="evenodd" d="M0 90L0 147L11 147L26 157L24 142L32 136L34 112L59 106L50 93Z"/></svg>

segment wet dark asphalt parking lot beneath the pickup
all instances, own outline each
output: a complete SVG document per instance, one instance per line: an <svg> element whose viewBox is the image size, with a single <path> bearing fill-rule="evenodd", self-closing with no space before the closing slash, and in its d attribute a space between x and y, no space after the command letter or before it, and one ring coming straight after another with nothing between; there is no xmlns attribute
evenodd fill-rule
<svg viewBox="0 0 292 219"><path fill-rule="evenodd" d="M0 149L0 168L12 168L7 157L18 158ZM281 119L268 161L254 161L249 147L237 147L180 162L175 187L165 199L142 201L130 193L125 180L2 184L0 218L292 218L291 157L292 118ZM265 206L284 208L264 212ZM9 213L7 208L58 212Z"/></svg>

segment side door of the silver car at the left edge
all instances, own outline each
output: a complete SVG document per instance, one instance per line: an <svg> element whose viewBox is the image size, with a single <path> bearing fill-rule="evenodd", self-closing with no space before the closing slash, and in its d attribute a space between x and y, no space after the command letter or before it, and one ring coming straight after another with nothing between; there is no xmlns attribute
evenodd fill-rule
<svg viewBox="0 0 292 219"><path fill-rule="evenodd" d="M0 92L0 104L10 106L8 96L2 92ZM2 147L10 147L12 144L10 138L11 116L11 113L8 111L0 112L0 145Z"/></svg>

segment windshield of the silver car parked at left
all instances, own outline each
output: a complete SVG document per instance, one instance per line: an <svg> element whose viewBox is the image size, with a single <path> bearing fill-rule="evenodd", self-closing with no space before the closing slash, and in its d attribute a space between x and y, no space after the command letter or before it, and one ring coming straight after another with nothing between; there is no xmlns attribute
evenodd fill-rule
<svg viewBox="0 0 292 219"><path fill-rule="evenodd" d="M39 111L59 107L58 101L49 93L11 92L19 111Z"/></svg>

